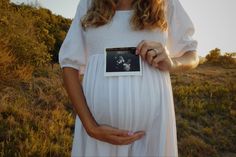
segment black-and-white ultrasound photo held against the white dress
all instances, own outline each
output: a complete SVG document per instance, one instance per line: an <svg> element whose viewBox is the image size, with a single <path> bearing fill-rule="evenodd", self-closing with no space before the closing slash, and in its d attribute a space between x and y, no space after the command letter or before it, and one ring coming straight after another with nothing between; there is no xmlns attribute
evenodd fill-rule
<svg viewBox="0 0 236 157"><path fill-rule="evenodd" d="M105 49L105 76L141 75L141 58L135 47Z"/></svg>

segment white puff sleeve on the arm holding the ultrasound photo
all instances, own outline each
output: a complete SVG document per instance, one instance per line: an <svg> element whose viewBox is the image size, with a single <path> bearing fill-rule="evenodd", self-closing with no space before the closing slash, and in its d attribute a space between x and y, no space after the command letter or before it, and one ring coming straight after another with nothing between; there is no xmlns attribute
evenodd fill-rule
<svg viewBox="0 0 236 157"><path fill-rule="evenodd" d="M197 49L198 42L193 39L194 25L179 0L168 0L167 23L167 49L171 58Z"/></svg>

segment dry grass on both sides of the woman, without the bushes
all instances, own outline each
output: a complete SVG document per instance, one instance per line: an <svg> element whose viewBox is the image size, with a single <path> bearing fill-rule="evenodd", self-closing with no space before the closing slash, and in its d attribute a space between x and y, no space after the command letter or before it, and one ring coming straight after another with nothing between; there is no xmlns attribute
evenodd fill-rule
<svg viewBox="0 0 236 157"><path fill-rule="evenodd" d="M1 156L70 154L74 113L60 69L48 67L38 75L18 85L1 84ZM236 153L236 69L200 65L171 77L180 156Z"/></svg>

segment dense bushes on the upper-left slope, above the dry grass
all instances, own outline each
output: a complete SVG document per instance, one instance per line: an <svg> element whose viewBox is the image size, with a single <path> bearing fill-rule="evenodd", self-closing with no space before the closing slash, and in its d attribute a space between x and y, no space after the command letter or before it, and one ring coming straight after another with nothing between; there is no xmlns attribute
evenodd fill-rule
<svg viewBox="0 0 236 157"><path fill-rule="evenodd" d="M44 8L0 0L0 39L21 64L42 66L58 61L58 51L71 20Z"/></svg>

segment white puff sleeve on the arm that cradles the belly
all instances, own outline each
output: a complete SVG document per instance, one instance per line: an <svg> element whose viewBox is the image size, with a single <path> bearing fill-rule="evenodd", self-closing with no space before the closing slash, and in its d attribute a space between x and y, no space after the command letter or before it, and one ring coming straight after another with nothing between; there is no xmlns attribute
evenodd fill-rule
<svg viewBox="0 0 236 157"><path fill-rule="evenodd" d="M80 18L86 11L87 0L80 0L75 17L59 50L58 59L61 68L71 67L82 70L83 73L87 62L87 50Z"/></svg>

